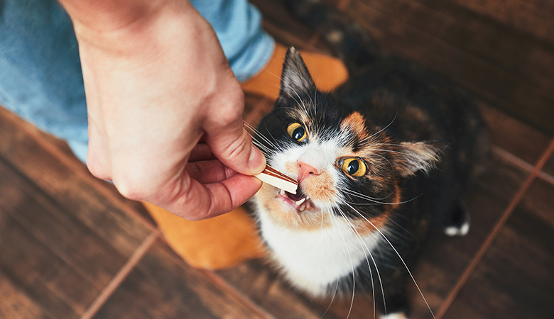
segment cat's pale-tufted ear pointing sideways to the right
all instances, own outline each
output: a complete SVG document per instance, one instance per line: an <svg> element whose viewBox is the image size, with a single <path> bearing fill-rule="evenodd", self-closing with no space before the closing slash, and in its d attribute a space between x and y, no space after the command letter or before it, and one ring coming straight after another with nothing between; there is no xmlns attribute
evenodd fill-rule
<svg viewBox="0 0 554 319"><path fill-rule="evenodd" d="M440 155L446 150L445 141L401 142L396 150L395 168L403 177L415 172L428 173L440 162Z"/></svg>

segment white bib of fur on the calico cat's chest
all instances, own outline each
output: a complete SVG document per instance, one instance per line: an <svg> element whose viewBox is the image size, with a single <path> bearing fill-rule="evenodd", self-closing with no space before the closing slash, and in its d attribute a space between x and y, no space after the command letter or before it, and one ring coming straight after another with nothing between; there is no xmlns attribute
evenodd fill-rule
<svg viewBox="0 0 554 319"><path fill-rule="evenodd" d="M332 216L331 228L290 230L275 225L261 207L259 210L261 234L273 250L273 258L292 284L313 296L322 296L327 286L352 273L362 262L369 261L373 267L366 252L374 249L381 234L360 238L338 216Z"/></svg>

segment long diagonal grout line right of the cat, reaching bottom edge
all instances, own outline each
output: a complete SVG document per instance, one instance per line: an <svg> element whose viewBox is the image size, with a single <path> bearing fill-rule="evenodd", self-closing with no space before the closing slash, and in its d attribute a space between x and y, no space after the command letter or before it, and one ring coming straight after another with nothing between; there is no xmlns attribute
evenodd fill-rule
<svg viewBox="0 0 554 319"><path fill-rule="evenodd" d="M548 145L548 148L545 150L543 155L541 155L541 158L538 159L537 164L535 165L533 171L529 176L527 177L526 181L523 182L522 186L510 202L509 206L504 210L504 213L500 216L499 220L494 225L494 228L491 230L487 238L482 243L481 247L479 247L479 250L474 255L472 261L469 263L465 271L462 273L462 276L458 279L456 282L454 288L448 293L447 298L445 301L442 302L440 305L440 308L435 315L435 319L442 319L444 315L446 314L447 310L452 306L452 303L454 302L455 298L458 296L462 288L467 284L467 281L469 281L469 277L473 274L475 269L477 269L477 266L482 261L484 255L488 252L489 248L493 244L494 240L496 240L496 237L500 234L501 230L504 229L504 225L506 225L506 222L508 221L509 217L511 216L511 213L514 212L518 204L521 202L521 199L523 199L523 196L526 194L529 187L531 187L531 184L533 184L533 181L535 181L536 177L541 172L541 169L543 169L544 165L550 158L550 155L554 152L554 139L550 140L550 144Z"/></svg>

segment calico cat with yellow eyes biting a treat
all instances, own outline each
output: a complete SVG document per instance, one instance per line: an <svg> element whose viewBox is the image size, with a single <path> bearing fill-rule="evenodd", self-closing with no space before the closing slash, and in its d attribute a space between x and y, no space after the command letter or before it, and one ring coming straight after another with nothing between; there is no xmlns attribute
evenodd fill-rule
<svg viewBox="0 0 554 319"><path fill-rule="evenodd" d="M281 92L254 142L299 188L262 186L259 232L298 289L373 293L381 318L407 318L408 269L420 245L435 229L467 233L459 197L487 155L487 129L457 86L379 55L335 11L290 3L330 40L350 77L332 93L318 91L298 50L288 50Z"/></svg>

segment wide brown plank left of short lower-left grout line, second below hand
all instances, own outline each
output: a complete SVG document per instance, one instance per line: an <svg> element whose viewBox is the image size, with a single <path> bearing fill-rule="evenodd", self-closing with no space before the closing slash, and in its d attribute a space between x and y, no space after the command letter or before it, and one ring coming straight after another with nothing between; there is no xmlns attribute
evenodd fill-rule
<svg viewBox="0 0 554 319"><path fill-rule="evenodd" d="M4 160L0 192L0 273L48 318L78 318L126 257Z"/></svg>

